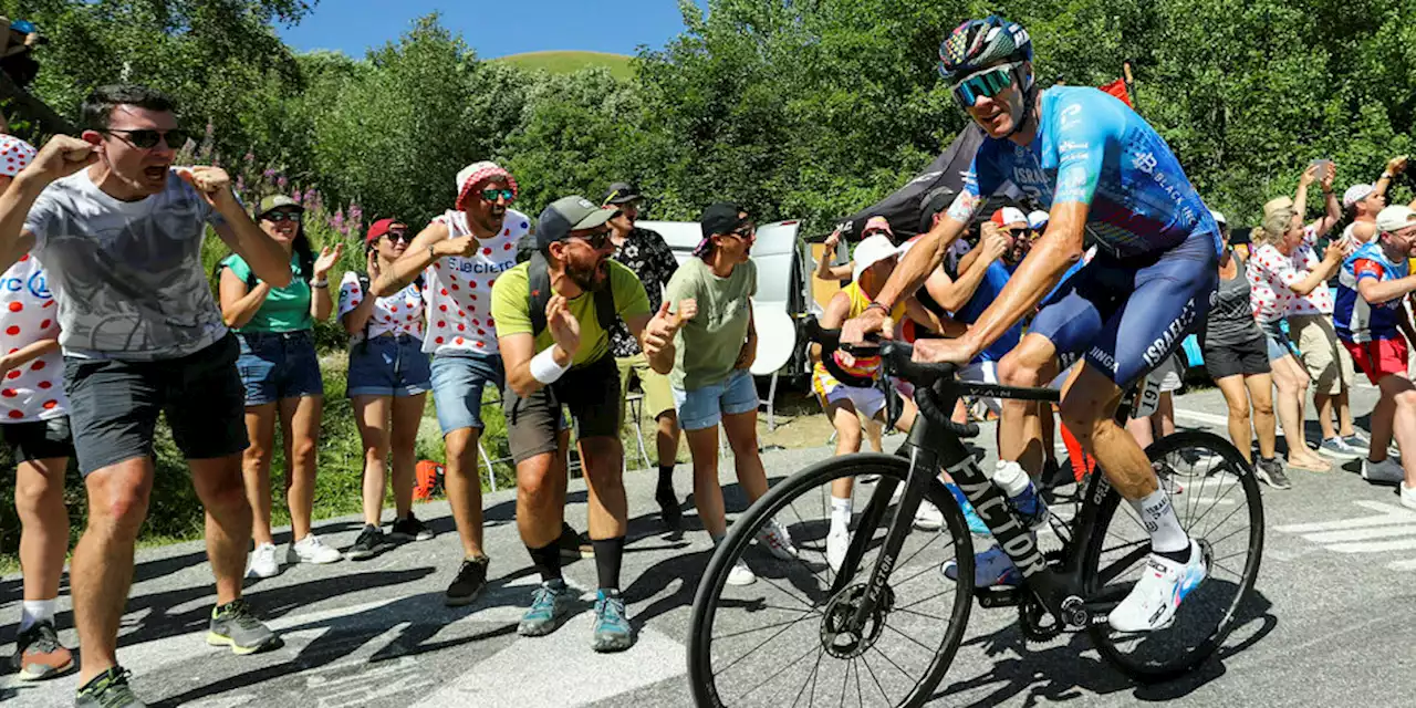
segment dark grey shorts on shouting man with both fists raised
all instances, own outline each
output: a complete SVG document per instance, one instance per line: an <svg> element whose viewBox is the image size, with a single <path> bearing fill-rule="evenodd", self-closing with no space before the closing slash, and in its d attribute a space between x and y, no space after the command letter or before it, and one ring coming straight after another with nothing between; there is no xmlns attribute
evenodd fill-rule
<svg viewBox="0 0 1416 708"><path fill-rule="evenodd" d="M152 457L157 415L188 460L236 455L246 439L245 387L234 334L174 360L64 358L64 392L79 472Z"/></svg>

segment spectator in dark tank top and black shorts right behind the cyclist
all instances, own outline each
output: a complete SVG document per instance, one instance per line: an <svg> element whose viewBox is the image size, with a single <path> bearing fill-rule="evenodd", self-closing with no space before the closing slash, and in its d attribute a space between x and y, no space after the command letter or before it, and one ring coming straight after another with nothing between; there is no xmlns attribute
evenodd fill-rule
<svg viewBox="0 0 1416 708"><path fill-rule="evenodd" d="M1199 350L1205 355L1205 370L1229 408L1229 439L1245 460L1253 462L1253 439L1257 436L1255 474L1270 487L1289 489L1291 483L1283 463L1274 457L1273 377L1263 330L1253 319L1252 287L1243 262L1229 245L1229 222L1218 211L1211 215L1219 224L1225 249L1219 255L1215 303L1209 307L1205 327L1199 330Z"/></svg>

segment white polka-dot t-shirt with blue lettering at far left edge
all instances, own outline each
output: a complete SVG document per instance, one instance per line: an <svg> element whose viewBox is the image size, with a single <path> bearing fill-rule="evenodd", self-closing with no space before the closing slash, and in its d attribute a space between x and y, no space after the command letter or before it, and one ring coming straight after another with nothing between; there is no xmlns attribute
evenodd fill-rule
<svg viewBox="0 0 1416 708"><path fill-rule="evenodd" d="M0 276L0 350L14 353L59 336L58 307L38 258L24 255ZM69 408L58 350L16 367L0 379L0 423L48 421Z"/></svg>

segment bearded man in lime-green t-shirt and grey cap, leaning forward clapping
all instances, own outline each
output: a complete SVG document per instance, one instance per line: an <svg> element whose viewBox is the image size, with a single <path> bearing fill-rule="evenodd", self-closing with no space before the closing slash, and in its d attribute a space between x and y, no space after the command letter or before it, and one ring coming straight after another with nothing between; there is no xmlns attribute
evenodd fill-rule
<svg viewBox="0 0 1416 708"><path fill-rule="evenodd" d="M564 405L579 430L590 497L590 542L599 575L592 641L596 651L620 651L633 644L619 592L629 504L620 477L624 447L619 439L619 370L606 331L615 319L602 312L606 292L613 313L624 320L650 367L661 374L673 368L674 334L694 312L694 303L683 303L681 314L671 316L664 303L650 317L639 278L610 259L615 245L606 222L617 214L583 197L556 200L541 212L537 256L503 272L491 290L507 372L501 396L507 438L517 463L517 528L541 573L518 632L549 634L575 599L561 576L556 544L565 513L565 449L558 443ZM541 292L542 286L549 292ZM534 321L534 306L544 312L544 321Z"/></svg>

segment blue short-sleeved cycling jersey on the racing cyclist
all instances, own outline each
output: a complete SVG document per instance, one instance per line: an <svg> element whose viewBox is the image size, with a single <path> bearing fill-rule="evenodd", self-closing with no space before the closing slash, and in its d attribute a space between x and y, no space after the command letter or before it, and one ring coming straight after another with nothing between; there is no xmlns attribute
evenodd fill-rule
<svg viewBox="0 0 1416 708"><path fill-rule="evenodd" d="M1028 146L984 139L949 214L967 221L1004 183L1045 210L1089 205L1096 242L1117 256L1168 251L1219 227L1191 187L1165 140L1134 110L1093 88L1042 92L1038 135Z"/></svg>

